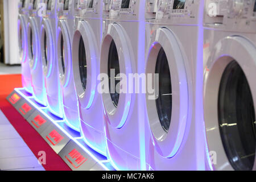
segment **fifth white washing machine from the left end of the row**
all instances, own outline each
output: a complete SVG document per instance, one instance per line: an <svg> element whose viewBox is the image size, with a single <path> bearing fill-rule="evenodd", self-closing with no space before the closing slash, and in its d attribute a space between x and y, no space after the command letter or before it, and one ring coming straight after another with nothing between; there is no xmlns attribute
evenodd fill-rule
<svg viewBox="0 0 256 182"><path fill-rule="evenodd" d="M102 1L79 1L75 18L72 64L79 99L81 134L85 143L106 155L104 107L97 92L100 80L100 44L102 39Z"/></svg>

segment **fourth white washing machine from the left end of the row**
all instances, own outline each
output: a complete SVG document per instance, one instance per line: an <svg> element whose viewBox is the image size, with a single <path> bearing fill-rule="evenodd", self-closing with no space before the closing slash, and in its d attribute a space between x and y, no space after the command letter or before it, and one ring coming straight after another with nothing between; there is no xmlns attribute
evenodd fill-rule
<svg viewBox="0 0 256 182"><path fill-rule="evenodd" d="M63 98L64 121L73 130L80 131L79 107L72 69L72 40L77 5L78 1L73 0L58 2L56 53Z"/></svg>

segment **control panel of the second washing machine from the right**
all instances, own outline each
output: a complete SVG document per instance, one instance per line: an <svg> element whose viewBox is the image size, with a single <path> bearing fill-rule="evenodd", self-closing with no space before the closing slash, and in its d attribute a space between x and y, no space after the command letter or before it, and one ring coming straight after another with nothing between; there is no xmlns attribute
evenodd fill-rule
<svg viewBox="0 0 256 182"><path fill-rule="evenodd" d="M174 24L197 24L200 3L196 0L158 0L156 19Z"/></svg>

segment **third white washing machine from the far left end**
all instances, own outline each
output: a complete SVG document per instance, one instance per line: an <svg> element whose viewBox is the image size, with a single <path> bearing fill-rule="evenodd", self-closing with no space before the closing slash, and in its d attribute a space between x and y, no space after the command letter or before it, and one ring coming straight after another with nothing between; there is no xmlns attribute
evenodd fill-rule
<svg viewBox="0 0 256 182"><path fill-rule="evenodd" d="M63 102L57 62L57 0L43 0L46 15L40 28L40 43L46 85L48 109L57 117L63 118Z"/></svg>

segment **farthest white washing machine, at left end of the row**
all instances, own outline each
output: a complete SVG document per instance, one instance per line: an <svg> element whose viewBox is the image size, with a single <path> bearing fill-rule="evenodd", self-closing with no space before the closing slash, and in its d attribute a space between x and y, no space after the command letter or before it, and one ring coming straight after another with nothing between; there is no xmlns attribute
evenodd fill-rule
<svg viewBox="0 0 256 182"><path fill-rule="evenodd" d="M22 86L27 92L32 93L31 72L28 63L28 44L27 44L27 23L28 23L28 0L19 1L18 17L18 41L19 58L22 65Z"/></svg>

